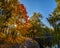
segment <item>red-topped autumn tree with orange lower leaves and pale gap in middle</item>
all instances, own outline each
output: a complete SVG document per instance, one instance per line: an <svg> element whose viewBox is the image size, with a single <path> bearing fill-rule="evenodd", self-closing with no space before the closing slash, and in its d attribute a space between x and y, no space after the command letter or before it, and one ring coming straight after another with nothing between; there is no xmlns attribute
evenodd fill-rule
<svg viewBox="0 0 60 48"><path fill-rule="evenodd" d="M24 7L23 4L19 5L19 10L20 13L17 17L17 23L19 26L17 29L20 31L22 35L25 35L26 33L28 33L27 30L29 28L29 20L28 20L26 8Z"/></svg>

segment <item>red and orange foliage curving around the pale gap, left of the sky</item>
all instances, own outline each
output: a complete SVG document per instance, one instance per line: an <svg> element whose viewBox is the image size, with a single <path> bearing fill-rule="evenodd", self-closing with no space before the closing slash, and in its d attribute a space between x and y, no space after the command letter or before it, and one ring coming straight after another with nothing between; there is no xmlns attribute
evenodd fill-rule
<svg viewBox="0 0 60 48"><path fill-rule="evenodd" d="M18 28L21 30L23 30L23 28L28 29L30 27L30 23L29 23L29 20L28 20L28 16L27 16L27 11L26 11L26 8L24 7L23 4L19 4L18 5L18 8L19 8L19 18L23 18L25 23L21 26L19 26ZM18 23L21 23L19 20L17 21Z"/></svg>

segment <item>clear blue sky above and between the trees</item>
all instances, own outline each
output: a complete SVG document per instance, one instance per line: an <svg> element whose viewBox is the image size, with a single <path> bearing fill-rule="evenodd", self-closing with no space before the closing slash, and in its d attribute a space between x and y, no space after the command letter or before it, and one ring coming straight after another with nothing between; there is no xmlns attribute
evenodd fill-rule
<svg viewBox="0 0 60 48"><path fill-rule="evenodd" d="M56 8L55 0L19 0L19 2L26 7L29 17L32 16L33 12L40 12L43 16L42 22L50 27L46 17L49 17L49 14Z"/></svg>

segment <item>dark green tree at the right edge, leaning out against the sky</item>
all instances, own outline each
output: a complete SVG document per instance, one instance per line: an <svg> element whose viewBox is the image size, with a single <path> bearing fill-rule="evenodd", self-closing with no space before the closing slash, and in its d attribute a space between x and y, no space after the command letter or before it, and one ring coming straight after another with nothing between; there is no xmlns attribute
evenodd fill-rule
<svg viewBox="0 0 60 48"><path fill-rule="evenodd" d="M60 40L60 1L56 0L57 3L57 7L55 8L55 10L52 12L52 14L50 15L50 17L47 19L48 22L52 25L53 29L54 29L54 38L55 41L57 41L56 43L59 43Z"/></svg>

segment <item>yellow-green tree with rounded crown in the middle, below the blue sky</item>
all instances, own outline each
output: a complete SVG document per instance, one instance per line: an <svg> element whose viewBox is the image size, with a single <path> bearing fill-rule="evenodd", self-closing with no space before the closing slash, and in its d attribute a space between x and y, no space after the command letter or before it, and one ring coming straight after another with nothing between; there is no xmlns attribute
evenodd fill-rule
<svg viewBox="0 0 60 48"><path fill-rule="evenodd" d="M39 37L42 33L43 23L41 21L42 15L40 13L34 12L33 15L29 18L30 28L28 30L28 35L32 38Z"/></svg>

